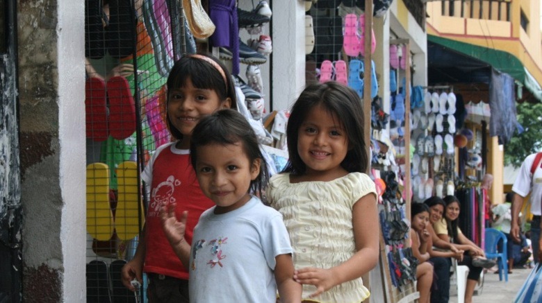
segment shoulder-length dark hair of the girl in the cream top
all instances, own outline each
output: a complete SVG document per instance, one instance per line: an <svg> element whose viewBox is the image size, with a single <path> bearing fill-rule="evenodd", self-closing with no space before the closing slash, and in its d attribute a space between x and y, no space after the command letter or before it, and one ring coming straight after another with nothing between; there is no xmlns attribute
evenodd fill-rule
<svg viewBox="0 0 542 303"><path fill-rule="evenodd" d="M348 137L348 152L340 166L349 173L365 173L368 165L366 142L363 134L363 107L358 94L350 87L335 81L317 83L307 86L299 95L292 107L286 137L288 138L288 154L290 159L283 172L302 175L306 165L297 151L299 127L307 114L317 106L322 106L344 126Z"/></svg>

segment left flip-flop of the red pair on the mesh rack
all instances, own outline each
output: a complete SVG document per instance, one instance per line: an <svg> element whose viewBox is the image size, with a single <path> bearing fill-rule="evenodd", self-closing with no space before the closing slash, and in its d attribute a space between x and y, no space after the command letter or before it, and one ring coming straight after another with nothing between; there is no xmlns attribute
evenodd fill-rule
<svg viewBox="0 0 542 303"><path fill-rule="evenodd" d="M106 83L100 78L85 82L85 112L87 138L105 141L108 137Z"/></svg>

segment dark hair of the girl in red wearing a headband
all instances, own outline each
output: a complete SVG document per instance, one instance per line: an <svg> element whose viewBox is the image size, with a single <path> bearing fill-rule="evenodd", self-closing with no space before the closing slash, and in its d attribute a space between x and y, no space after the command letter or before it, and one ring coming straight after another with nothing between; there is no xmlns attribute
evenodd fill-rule
<svg viewBox="0 0 542 303"><path fill-rule="evenodd" d="M199 55L205 56L213 60L218 64L220 69L224 71L226 82L224 83L224 77L219 69L217 69L210 62L202 60L201 58L192 57L186 55L179 59L173 65L170 76L167 77L167 92L171 92L173 89L184 87L186 81L190 79L192 85L199 89L212 89L218 95L220 100L226 100L231 98L231 108L237 109L237 98L235 87L233 86L233 79L228 69L213 55L208 53L200 53ZM169 102L170 96L167 93L167 102ZM172 126L170 116L167 116L167 128L169 128L171 135L175 139L182 139L183 135L179 130Z"/></svg>

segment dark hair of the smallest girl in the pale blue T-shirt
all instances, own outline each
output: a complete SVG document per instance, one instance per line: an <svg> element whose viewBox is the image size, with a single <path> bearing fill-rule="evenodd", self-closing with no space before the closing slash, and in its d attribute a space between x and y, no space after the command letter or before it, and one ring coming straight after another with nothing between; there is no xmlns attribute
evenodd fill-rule
<svg viewBox="0 0 542 303"><path fill-rule="evenodd" d="M236 110L218 110L205 116L192 130L190 139L190 162L196 168L197 148L208 144L242 144L245 155L252 164L260 159L260 173L250 182L249 191L256 193L263 202L263 189L266 187L269 174L268 164L261 153L256 133L248 123L245 116ZM220 155L217 155L220 157ZM197 173L197 172L196 172Z"/></svg>

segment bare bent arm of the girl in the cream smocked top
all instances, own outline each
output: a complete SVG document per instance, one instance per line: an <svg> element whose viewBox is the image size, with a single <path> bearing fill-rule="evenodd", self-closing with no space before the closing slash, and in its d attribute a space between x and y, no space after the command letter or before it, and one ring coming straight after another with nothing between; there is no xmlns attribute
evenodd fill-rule
<svg viewBox="0 0 542 303"><path fill-rule="evenodd" d="M338 284L356 279L375 268L379 256L379 218L375 195L360 198L352 208L352 225L357 252L333 268L301 268L294 278L301 284L316 286L315 297Z"/></svg>

